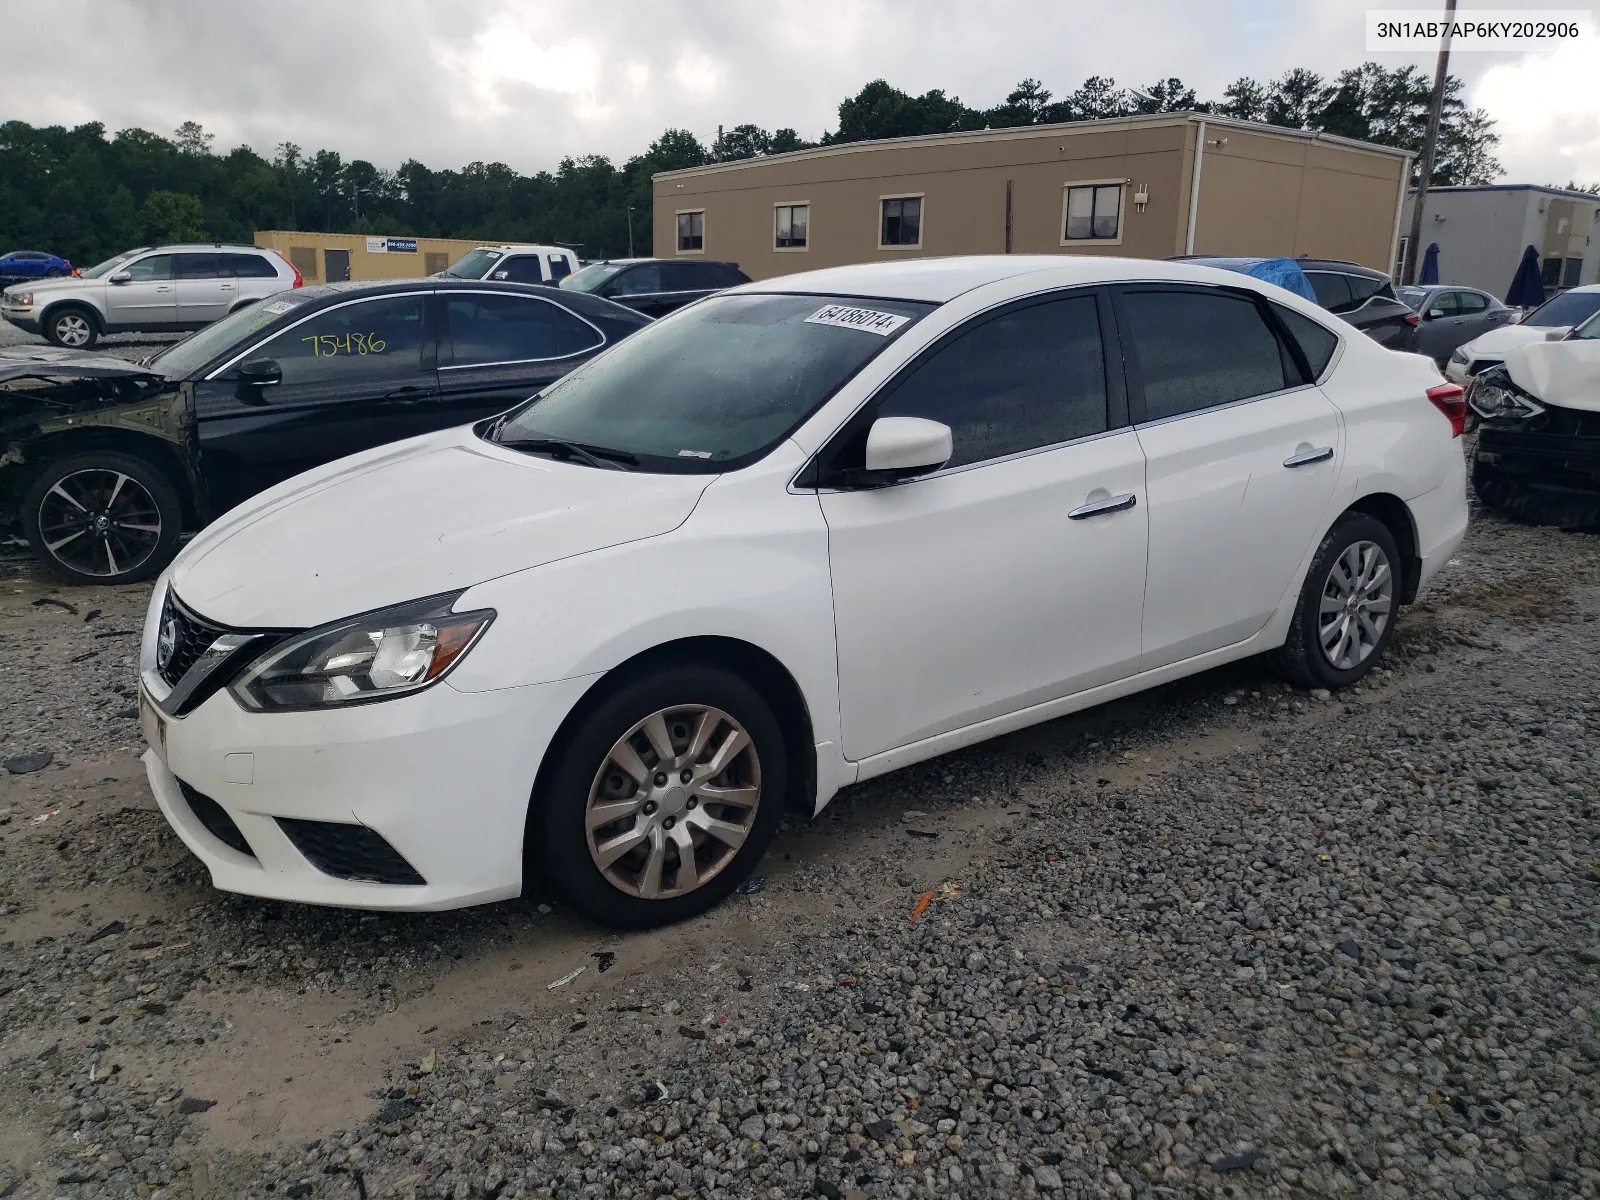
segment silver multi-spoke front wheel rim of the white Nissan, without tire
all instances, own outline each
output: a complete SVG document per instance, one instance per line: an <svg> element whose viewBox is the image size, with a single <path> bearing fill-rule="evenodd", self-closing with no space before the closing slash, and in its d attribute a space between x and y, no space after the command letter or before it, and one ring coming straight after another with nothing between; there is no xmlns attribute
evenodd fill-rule
<svg viewBox="0 0 1600 1200"><path fill-rule="evenodd" d="M726 712L661 709L622 734L589 789L589 854L614 888L672 899L739 853L762 802L755 742Z"/></svg>

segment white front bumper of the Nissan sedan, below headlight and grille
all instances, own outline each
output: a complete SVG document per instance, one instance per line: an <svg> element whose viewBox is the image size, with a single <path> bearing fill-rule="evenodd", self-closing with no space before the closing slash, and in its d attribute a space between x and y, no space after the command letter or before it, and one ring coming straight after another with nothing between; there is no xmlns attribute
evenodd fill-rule
<svg viewBox="0 0 1600 1200"><path fill-rule="evenodd" d="M226 690L184 717L144 699L144 762L162 813L224 891L357 909L480 904L522 891L534 774L590 682L466 693L445 680L392 701L283 714L246 712ZM179 781L226 813L250 853L208 827ZM283 819L365 826L424 882L328 874Z"/></svg>

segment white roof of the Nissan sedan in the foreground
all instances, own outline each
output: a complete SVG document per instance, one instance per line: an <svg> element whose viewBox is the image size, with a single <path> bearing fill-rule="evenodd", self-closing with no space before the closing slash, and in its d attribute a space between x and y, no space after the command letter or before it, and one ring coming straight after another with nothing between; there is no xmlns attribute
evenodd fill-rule
<svg viewBox="0 0 1600 1200"><path fill-rule="evenodd" d="M1248 286L1250 277L1200 262L1170 262L1142 258L1102 258L1099 254L966 254L960 258L918 258L902 262L861 262L824 267L800 275L744 283L739 291L794 291L832 296L877 296L882 299L933 301L944 304L987 283L1050 270L1053 283L1118 283L1123 280L1170 280L1174 283L1227 283Z"/></svg>

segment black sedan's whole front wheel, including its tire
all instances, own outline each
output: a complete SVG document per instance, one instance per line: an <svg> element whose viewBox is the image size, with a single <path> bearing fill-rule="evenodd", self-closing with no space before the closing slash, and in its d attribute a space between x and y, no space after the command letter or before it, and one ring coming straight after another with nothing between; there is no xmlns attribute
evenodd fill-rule
<svg viewBox="0 0 1600 1200"><path fill-rule="evenodd" d="M178 552L182 522L184 506L166 474L115 450L58 459L22 493L22 531L35 557L69 584L157 576Z"/></svg>

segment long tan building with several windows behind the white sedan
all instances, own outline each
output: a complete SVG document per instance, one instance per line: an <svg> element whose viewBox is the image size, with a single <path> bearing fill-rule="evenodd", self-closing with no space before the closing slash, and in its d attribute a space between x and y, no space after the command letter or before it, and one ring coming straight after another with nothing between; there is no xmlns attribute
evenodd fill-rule
<svg viewBox="0 0 1600 1200"><path fill-rule="evenodd" d="M1157 114L822 146L654 176L654 253L752 278L934 254L1310 254L1389 270L1408 150Z"/></svg>

